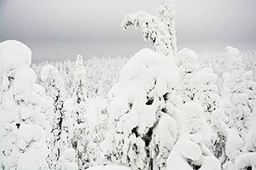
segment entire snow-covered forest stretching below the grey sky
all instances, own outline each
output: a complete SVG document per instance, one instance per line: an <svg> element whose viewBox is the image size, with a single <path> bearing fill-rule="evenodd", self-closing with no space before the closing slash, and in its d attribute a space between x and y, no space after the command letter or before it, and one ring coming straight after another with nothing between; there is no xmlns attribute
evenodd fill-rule
<svg viewBox="0 0 256 170"><path fill-rule="evenodd" d="M178 50L159 2L123 19L152 47L131 57L32 63L0 44L1 170L256 169L256 50Z"/></svg>

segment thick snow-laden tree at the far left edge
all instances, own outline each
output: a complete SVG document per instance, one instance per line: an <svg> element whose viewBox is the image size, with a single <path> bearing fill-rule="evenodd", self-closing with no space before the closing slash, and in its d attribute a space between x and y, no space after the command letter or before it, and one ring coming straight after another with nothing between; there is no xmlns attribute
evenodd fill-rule
<svg viewBox="0 0 256 170"><path fill-rule="evenodd" d="M44 88L35 84L36 75L29 67L31 50L18 41L4 41L0 62L0 169L49 169L47 121L41 112Z"/></svg>

